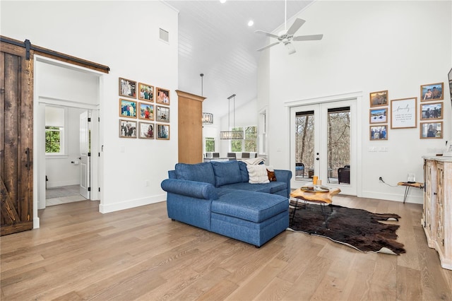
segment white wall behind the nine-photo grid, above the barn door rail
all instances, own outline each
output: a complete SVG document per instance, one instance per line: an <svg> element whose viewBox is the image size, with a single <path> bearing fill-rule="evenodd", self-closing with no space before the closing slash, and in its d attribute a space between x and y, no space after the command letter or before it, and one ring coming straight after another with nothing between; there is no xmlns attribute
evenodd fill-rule
<svg viewBox="0 0 452 301"><path fill-rule="evenodd" d="M160 1L1 1L1 35L111 69L99 90L102 213L166 199L160 182L177 162L177 25ZM169 141L119 138L119 77L171 91Z"/></svg>

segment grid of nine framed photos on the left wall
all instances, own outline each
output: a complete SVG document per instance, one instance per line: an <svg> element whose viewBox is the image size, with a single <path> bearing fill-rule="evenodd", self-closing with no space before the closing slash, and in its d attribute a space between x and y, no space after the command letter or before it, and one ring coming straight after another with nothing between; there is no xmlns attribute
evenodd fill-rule
<svg viewBox="0 0 452 301"><path fill-rule="evenodd" d="M119 138L169 140L169 104L168 89L119 78Z"/></svg>

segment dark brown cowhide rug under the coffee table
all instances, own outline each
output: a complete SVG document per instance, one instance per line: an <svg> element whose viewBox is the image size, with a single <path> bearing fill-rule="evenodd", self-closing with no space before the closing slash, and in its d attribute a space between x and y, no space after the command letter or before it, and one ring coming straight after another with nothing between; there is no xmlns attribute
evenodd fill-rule
<svg viewBox="0 0 452 301"><path fill-rule="evenodd" d="M328 213L328 229L325 227L320 205L308 203L306 207L304 204L299 205L293 220L293 208L290 208L290 226L287 230L328 237L362 252L405 253L403 244L396 242L396 230L400 226L379 222L398 221L400 216L397 214L371 213L337 205L325 206L325 209Z"/></svg>

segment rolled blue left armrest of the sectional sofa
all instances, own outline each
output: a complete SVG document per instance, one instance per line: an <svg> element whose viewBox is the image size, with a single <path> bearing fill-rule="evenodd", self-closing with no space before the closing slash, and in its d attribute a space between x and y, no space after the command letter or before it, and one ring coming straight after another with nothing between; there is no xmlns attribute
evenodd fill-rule
<svg viewBox="0 0 452 301"><path fill-rule="evenodd" d="M182 194L196 199L218 199L217 190L210 183L195 182L186 179L164 179L160 186L163 190L173 194Z"/></svg>

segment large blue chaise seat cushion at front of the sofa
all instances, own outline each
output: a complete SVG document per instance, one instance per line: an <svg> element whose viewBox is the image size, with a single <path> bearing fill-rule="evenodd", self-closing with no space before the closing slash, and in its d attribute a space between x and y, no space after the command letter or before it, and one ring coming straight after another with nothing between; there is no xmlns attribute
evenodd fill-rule
<svg viewBox="0 0 452 301"><path fill-rule="evenodd" d="M210 210L213 213L232 216L254 223L261 223L272 216L287 211L289 200L276 194L230 190L222 191L217 200L213 200Z"/></svg>

